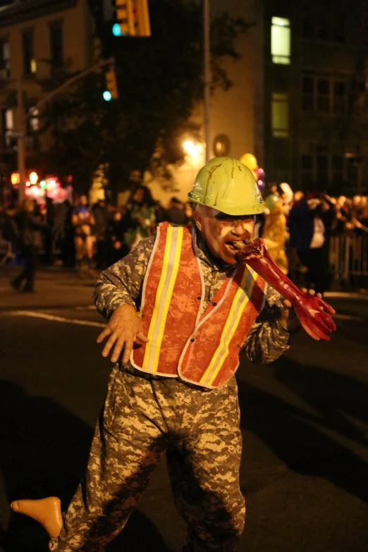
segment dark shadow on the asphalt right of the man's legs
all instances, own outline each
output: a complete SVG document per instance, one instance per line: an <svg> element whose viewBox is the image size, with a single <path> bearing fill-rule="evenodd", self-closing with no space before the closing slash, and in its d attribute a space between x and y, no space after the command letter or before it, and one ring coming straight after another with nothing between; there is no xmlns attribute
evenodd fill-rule
<svg viewBox="0 0 368 552"><path fill-rule="evenodd" d="M367 447L368 386L288 357L262 369L306 403L298 407L243 381L238 382L241 427L257 435L290 470L322 477L368 502L368 464L352 450ZM365 428L365 429L364 429ZM352 441L345 446L341 438ZM349 458L349 470L332 460Z"/></svg>

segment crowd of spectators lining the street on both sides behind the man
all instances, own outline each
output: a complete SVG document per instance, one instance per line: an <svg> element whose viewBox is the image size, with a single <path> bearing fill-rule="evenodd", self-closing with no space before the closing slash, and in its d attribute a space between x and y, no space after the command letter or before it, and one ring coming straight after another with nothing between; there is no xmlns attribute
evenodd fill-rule
<svg viewBox="0 0 368 552"><path fill-rule="evenodd" d="M264 192L265 213L258 233L284 274L305 270L315 289L329 288L329 238L341 233L368 235L368 196L331 197L324 193L293 192L287 183L271 183ZM98 200L90 206L86 195L75 205L54 204L46 198L37 204L27 198L0 207L0 237L12 245L25 263L12 282L17 290L34 290L37 259L75 267L81 278L96 276L156 233L163 221L191 225L192 204L171 197L166 207L153 199L147 186L136 183L124 205ZM23 287L23 281L25 285Z"/></svg>

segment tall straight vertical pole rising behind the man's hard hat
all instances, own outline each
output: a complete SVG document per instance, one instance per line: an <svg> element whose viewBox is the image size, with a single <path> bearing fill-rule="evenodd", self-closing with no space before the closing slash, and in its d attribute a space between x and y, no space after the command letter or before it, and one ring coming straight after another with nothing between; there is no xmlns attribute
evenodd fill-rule
<svg viewBox="0 0 368 552"><path fill-rule="evenodd" d="M211 155L211 57L209 39L209 0L203 0L203 51L204 51L204 142L206 142L206 163Z"/></svg>

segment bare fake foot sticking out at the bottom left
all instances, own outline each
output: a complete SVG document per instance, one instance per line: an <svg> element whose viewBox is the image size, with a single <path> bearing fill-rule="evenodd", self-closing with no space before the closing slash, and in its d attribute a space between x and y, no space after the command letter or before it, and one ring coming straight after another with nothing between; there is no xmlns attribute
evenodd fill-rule
<svg viewBox="0 0 368 552"><path fill-rule="evenodd" d="M61 515L60 498L49 496L37 501L20 500L13 501L11 508L14 512L28 515L43 525L50 536L56 538L61 532L63 526L63 516Z"/></svg>

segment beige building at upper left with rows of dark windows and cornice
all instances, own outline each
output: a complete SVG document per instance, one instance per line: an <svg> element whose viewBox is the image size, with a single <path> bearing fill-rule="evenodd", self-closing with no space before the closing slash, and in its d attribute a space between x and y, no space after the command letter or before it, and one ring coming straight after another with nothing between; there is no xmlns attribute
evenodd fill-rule
<svg viewBox="0 0 368 552"><path fill-rule="evenodd" d="M20 118L42 99L39 81L92 65L93 18L87 0L3 1L0 6L0 174L8 182L17 169ZM19 94L22 94L21 99ZM19 101L20 99L20 101ZM23 105L22 105L23 104ZM25 125L27 159L47 150L49 135L38 135L37 111Z"/></svg>

